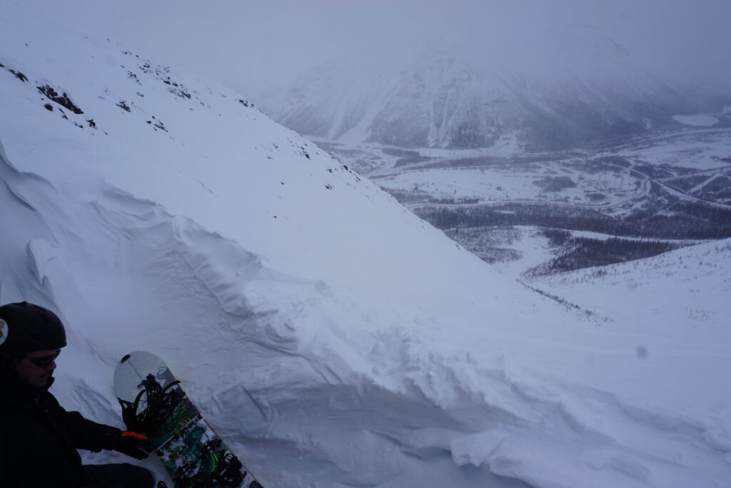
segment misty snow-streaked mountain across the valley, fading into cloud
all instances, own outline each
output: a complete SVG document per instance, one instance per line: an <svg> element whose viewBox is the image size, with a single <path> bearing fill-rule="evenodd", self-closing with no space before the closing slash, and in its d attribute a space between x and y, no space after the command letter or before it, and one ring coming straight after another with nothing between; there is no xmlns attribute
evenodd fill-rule
<svg viewBox="0 0 731 488"><path fill-rule="evenodd" d="M260 105L303 135L330 140L471 148L515 132L528 146L558 149L676 125L673 115L723 103L635 70L629 53L596 29L562 32L539 57L486 70L441 50L391 70L341 59Z"/></svg>

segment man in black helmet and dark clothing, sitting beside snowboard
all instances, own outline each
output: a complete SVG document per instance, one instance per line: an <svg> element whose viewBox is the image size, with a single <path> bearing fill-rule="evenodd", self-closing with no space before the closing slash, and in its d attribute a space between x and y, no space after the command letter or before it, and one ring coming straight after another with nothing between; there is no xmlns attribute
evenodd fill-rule
<svg viewBox="0 0 731 488"><path fill-rule="evenodd" d="M48 388L65 345L64 325L50 310L25 301L0 307L0 486L152 488L140 466L82 465L77 448L144 459L151 444L61 408Z"/></svg>

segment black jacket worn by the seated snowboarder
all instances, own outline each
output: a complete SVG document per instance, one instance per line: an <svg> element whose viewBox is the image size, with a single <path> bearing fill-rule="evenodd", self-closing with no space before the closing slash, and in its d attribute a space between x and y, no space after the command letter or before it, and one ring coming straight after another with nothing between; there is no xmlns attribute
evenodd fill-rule
<svg viewBox="0 0 731 488"><path fill-rule="evenodd" d="M33 388L0 363L2 488L83 487L76 449L110 449L121 432L67 412L48 387Z"/></svg>

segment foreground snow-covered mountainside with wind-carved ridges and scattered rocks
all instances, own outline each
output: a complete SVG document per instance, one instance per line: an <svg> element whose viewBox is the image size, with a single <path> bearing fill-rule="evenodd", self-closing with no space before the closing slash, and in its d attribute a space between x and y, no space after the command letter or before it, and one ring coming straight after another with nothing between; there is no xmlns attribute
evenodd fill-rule
<svg viewBox="0 0 731 488"><path fill-rule="evenodd" d="M0 46L0 301L67 409L148 350L266 487L728 486L729 241L521 284L240 94L8 1Z"/></svg>

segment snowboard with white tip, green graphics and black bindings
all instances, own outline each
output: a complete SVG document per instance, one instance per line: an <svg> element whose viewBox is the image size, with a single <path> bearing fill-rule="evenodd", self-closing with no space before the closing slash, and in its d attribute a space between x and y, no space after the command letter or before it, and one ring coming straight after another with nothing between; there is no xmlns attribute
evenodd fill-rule
<svg viewBox="0 0 731 488"><path fill-rule="evenodd" d="M152 353L119 361L114 389L127 429L148 437L175 488L263 488Z"/></svg>

